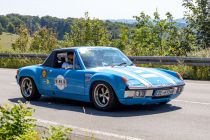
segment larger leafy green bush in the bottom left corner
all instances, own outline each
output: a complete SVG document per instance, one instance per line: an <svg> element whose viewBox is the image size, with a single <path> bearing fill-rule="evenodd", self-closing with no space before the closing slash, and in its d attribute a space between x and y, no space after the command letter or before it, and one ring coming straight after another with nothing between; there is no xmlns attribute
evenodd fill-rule
<svg viewBox="0 0 210 140"><path fill-rule="evenodd" d="M27 139L36 135L35 120L29 118L33 112L21 102L0 107L0 140Z"/></svg>

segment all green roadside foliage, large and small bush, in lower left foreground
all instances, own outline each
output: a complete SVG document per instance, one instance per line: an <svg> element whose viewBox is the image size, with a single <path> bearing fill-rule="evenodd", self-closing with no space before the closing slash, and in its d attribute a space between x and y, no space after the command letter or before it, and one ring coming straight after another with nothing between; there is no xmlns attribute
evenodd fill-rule
<svg viewBox="0 0 210 140"><path fill-rule="evenodd" d="M70 128L50 126L47 137L35 131L36 120L31 116L33 108L22 102L0 106L0 140L68 140Z"/></svg>

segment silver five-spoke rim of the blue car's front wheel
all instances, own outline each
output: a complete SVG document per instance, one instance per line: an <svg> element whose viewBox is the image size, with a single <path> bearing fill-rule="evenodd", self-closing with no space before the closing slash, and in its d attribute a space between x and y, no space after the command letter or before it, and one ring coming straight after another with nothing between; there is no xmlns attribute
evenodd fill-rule
<svg viewBox="0 0 210 140"><path fill-rule="evenodd" d="M99 84L94 90L94 99L99 107L105 107L109 104L110 92L107 86Z"/></svg>

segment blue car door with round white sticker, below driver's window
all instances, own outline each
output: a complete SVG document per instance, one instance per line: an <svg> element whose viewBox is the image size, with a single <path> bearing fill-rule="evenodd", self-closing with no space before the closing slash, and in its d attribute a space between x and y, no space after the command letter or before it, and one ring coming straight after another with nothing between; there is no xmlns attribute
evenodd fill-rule
<svg viewBox="0 0 210 140"><path fill-rule="evenodd" d="M55 96L74 98L73 95L84 95L84 70L80 67L76 53L74 53L72 69L50 68L48 78L53 83L53 95Z"/></svg>

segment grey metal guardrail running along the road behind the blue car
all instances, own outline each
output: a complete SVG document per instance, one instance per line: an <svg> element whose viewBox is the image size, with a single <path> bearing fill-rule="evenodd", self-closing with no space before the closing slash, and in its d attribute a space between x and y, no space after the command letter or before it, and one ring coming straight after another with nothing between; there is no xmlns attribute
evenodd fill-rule
<svg viewBox="0 0 210 140"><path fill-rule="evenodd" d="M7 54L0 53L0 58L30 58L46 59L46 54ZM210 66L210 58L175 57L175 56L129 56L135 64L176 65L182 63L188 66Z"/></svg>

